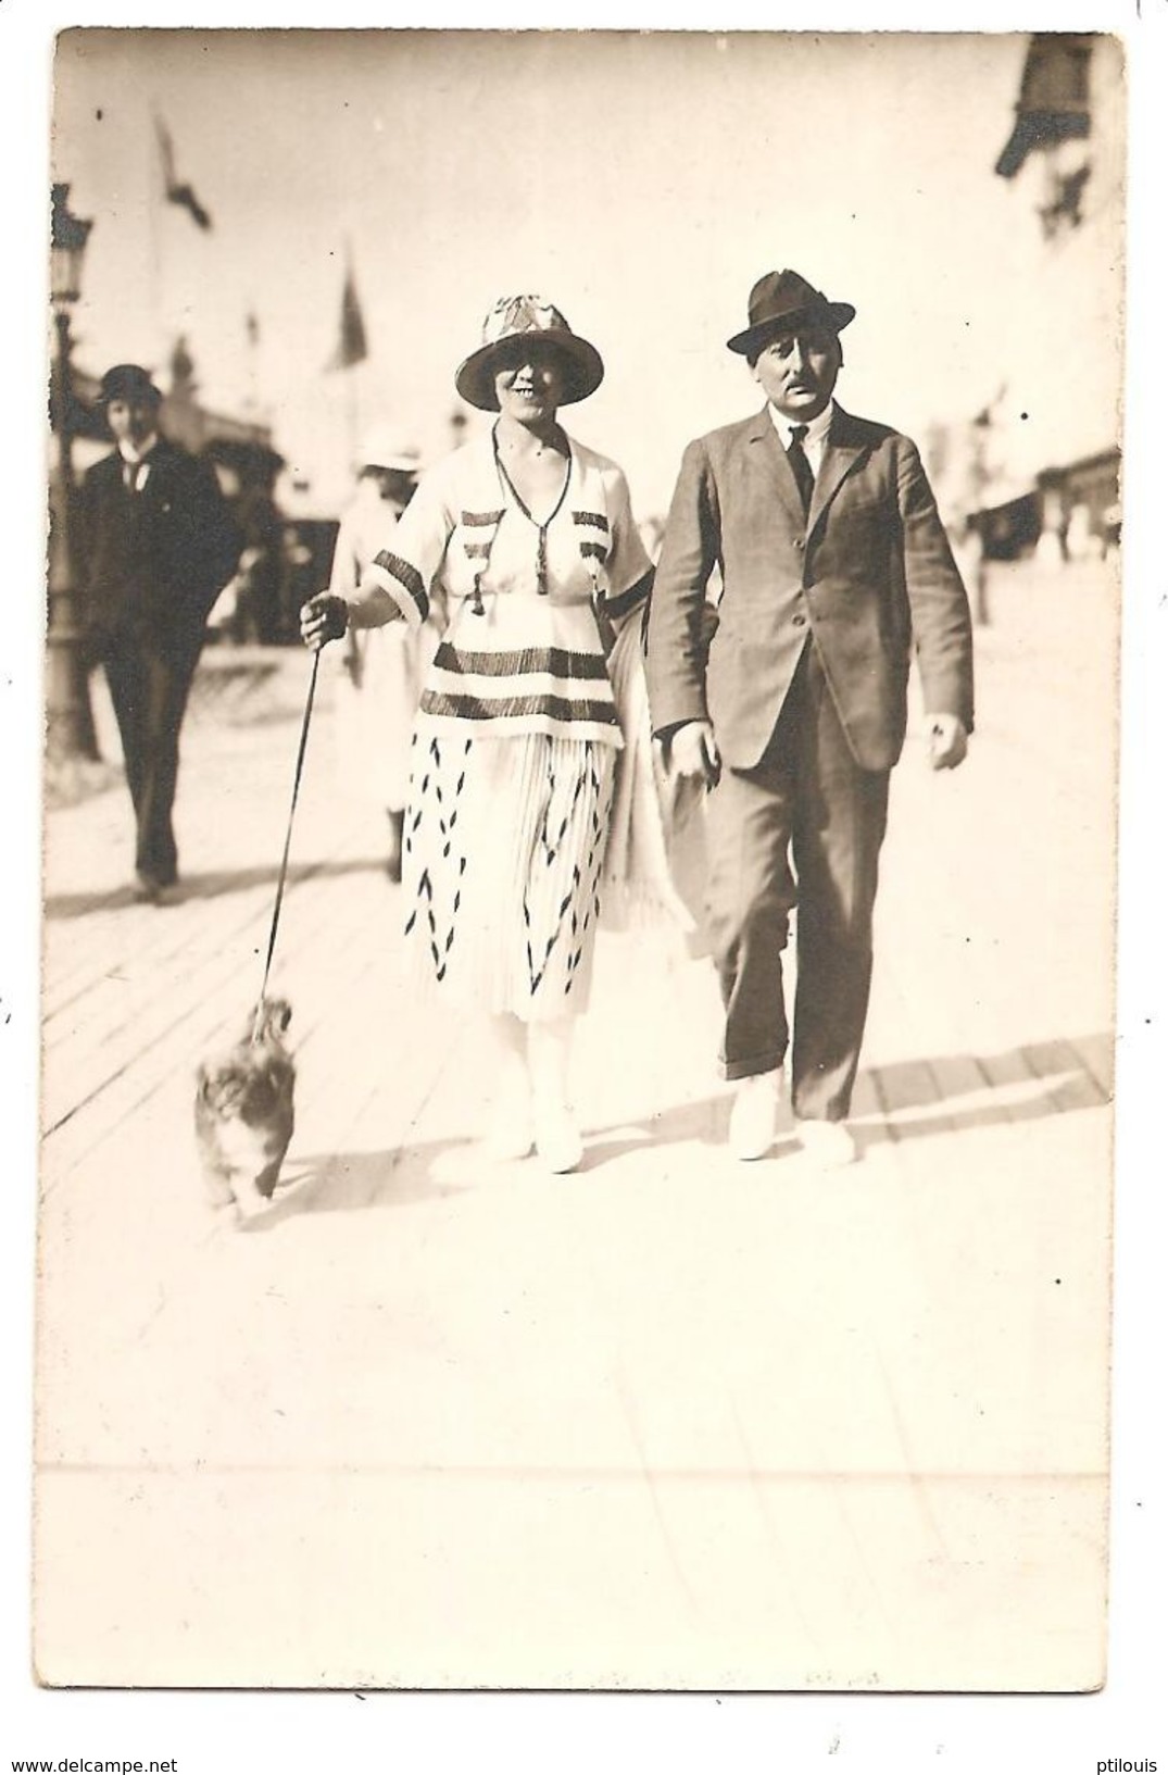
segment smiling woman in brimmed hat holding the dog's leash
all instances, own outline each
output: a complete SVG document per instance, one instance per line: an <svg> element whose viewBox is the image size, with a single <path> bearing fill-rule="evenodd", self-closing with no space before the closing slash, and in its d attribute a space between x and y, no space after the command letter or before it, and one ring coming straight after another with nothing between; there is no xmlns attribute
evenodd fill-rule
<svg viewBox="0 0 1168 1775"><path fill-rule="evenodd" d="M533 1143L554 1172L582 1156L568 1099L588 1005L623 746L607 655L651 568L625 476L573 442L561 406L600 353L540 296L508 296L458 367L492 430L422 476L348 598L302 612L309 646L350 627L447 627L414 730L403 886L408 937L449 1003L488 1014L499 1058L488 1150Z"/></svg>

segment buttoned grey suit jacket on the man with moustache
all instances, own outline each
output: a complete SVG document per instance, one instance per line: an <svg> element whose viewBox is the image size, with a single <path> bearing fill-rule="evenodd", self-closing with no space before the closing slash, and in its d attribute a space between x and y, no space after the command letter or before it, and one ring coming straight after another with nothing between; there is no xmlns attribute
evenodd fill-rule
<svg viewBox="0 0 1168 1775"><path fill-rule="evenodd" d="M706 662L715 566L722 598ZM722 760L751 769L808 634L863 769L900 756L912 650L927 710L973 728L969 600L916 446L836 406L804 520L763 408L685 451L650 612L653 730L708 719Z"/></svg>

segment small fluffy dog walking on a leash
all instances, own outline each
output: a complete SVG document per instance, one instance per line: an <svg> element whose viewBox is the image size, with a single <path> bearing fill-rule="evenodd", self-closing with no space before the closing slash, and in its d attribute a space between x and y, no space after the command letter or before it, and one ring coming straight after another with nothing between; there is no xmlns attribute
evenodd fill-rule
<svg viewBox="0 0 1168 1775"><path fill-rule="evenodd" d="M266 999L241 1040L199 1067L195 1145L217 1207L254 1214L272 1200L296 1120L296 1069L282 1042L289 1022L288 1001Z"/></svg>

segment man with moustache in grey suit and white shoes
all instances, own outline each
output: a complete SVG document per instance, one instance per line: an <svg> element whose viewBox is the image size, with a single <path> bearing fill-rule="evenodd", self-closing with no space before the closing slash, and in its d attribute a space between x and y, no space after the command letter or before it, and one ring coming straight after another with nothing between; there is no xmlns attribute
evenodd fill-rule
<svg viewBox="0 0 1168 1775"><path fill-rule="evenodd" d="M671 767L708 788L721 1063L738 1083L731 1148L770 1148L790 1035L795 1132L829 1166L856 1157L845 1118L909 657L932 765L951 769L973 730L969 602L916 446L833 398L856 309L786 270L754 284L747 314L728 344L767 405L685 451L653 588L650 705Z"/></svg>

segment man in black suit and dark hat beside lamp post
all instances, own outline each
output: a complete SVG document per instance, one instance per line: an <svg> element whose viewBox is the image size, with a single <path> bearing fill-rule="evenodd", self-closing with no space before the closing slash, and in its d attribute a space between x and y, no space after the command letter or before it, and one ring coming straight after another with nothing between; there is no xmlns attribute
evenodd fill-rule
<svg viewBox="0 0 1168 1775"><path fill-rule="evenodd" d="M158 431L162 394L115 364L99 401L115 449L85 476L80 566L91 660L101 660L137 822L135 893L178 889L174 792L179 728L206 619L240 541L213 469Z"/></svg>

